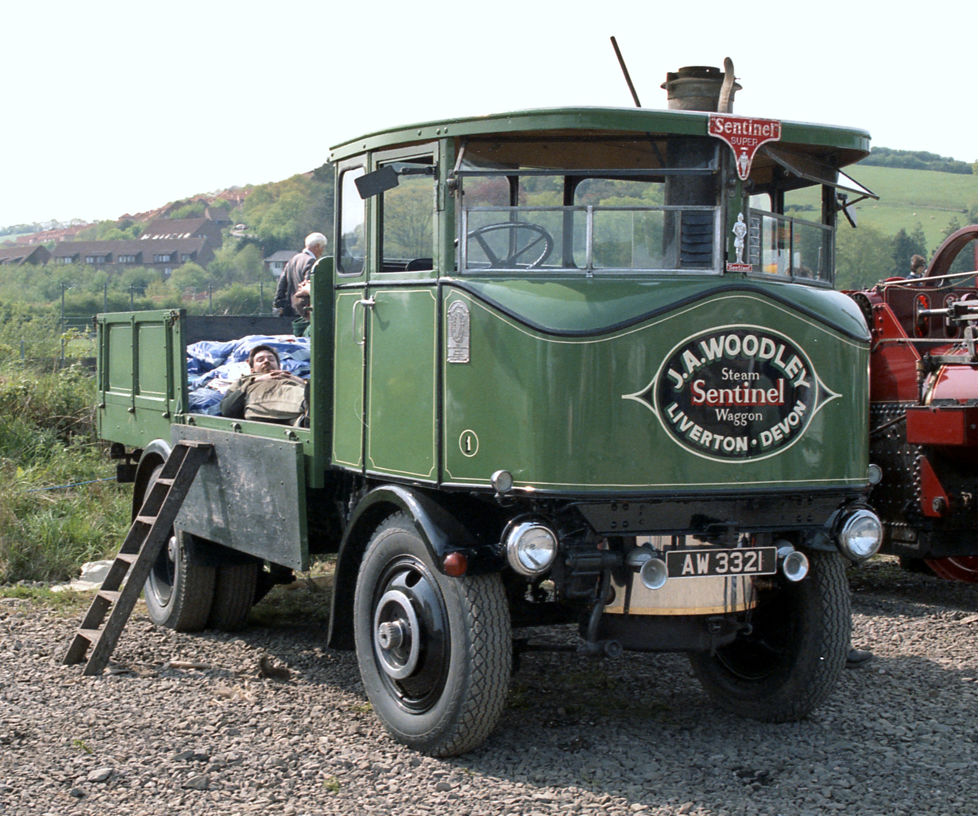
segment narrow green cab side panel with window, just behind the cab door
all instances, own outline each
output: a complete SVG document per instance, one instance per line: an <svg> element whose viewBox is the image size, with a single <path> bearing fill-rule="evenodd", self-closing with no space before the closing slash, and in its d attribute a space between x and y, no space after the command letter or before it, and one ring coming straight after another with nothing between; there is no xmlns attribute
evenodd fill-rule
<svg viewBox="0 0 978 816"><path fill-rule="evenodd" d="M364 361L368 325L367 203L355 181L365 157L338 168L333 272L333 464L363 469Z"/></svg>

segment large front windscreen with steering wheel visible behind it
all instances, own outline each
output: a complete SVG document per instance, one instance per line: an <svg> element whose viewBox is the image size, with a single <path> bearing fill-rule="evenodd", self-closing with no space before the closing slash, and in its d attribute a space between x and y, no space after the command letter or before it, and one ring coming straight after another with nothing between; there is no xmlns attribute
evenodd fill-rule
<svg viewBox="0 0 978 816"><path fill-rule="evenodd" d="M713 143L499 143L466 158L464 272L720 272Z"/></svg>

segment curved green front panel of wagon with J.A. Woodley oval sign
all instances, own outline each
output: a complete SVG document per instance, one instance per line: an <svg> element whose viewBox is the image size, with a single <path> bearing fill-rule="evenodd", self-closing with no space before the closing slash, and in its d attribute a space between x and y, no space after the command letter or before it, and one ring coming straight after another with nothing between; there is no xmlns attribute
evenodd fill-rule
<svg viewBox="0 0 978 816"><path fill-rule="evenodd" d="M865 324L801 287L466 280L444 299L445 474L676 494L866 484ZM795 303L792 303L795 299ZM453 330L467 323L464 362Z"/></svg>

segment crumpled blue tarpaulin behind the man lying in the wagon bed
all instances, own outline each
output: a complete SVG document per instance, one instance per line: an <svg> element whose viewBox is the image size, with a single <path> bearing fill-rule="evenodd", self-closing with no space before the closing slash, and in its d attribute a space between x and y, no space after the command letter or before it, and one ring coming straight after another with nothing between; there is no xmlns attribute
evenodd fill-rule
<svg viewBox="0 0 978 816"><path fill-rule="evenodd" d="M298 377L309 376L309 340L291 334L249 334L240 340L221 343L201 340L187 347L187 384L191 413L218 414L222 394L208 388L215 377L236 380L250 372L247 357L255 346L269 346L279 355L282 367Z"/></svg>

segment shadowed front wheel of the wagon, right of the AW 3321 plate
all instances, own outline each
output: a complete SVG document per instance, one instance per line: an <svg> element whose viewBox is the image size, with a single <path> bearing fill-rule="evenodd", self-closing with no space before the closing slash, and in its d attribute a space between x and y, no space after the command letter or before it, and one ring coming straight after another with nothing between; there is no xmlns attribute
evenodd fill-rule
<svg viewBox="0 0 978 816"><path fill-rule="evenodd" d="M798 583L761 593L750 634L689 663L718 706L763 722L801 719L822 704L846 664L852 617L842 557L809 552Z"/></svg>

